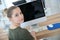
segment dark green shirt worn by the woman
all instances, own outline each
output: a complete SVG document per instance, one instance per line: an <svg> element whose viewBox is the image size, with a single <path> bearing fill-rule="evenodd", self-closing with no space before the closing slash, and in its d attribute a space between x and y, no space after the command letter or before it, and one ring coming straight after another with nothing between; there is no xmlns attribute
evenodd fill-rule
<svg viewBox="0 0 60 40"><path fill-rule="evenodd" d="M26 29L18 27L9 29L9 40L34 40L34 38Z"/></svg>

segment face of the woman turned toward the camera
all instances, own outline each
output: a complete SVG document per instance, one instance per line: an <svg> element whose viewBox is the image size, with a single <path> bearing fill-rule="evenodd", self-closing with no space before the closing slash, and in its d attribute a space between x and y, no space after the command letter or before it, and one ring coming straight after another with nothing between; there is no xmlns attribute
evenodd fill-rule
<svg viewBox="0 0 60 40"><path fill-rule="evenodd" d="M19 8L14 9L12 13L12 23L21 24L22 22L24 22L24 16Z"/></svg>

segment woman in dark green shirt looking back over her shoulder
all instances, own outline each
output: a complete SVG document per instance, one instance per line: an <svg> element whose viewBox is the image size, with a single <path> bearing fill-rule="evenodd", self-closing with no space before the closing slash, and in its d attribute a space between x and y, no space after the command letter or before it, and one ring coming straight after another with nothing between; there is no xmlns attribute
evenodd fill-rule
<svg viewBox="0 0 60 40"><path fill-rule="evenodd" d="M9 40L35 40L35 36L19 26L24 22L24 16L19 7L10 7L7 10L7 17L12 22L9 28Z"/></svg>

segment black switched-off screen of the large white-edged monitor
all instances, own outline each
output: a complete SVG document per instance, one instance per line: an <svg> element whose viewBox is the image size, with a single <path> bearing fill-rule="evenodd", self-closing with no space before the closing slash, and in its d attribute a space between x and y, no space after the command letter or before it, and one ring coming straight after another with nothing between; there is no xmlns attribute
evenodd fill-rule
<svg viewBox="0 0 60 40"><path fill-rule="evenodd" d="M20 7L24 15L25 22L45 16L41 0L22 4L19 5L18 7Z"/></svg>

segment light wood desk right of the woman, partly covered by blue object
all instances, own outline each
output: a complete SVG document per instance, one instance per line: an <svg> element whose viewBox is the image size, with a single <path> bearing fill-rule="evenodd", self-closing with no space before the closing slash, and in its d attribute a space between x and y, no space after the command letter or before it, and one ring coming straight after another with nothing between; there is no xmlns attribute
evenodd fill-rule
<svg viewBox="0 0 60 40"><path fill-rule="evenodd" d="M39 25L41 27L41 26L45 26L57 22L60 22L60 13L47 17L47 21L39 23ZM36 37L37 39L41 39L41 38L46 38L57 34L60 34L60 28L52 31L44 30L41 32L37 32Z"/></svg>

